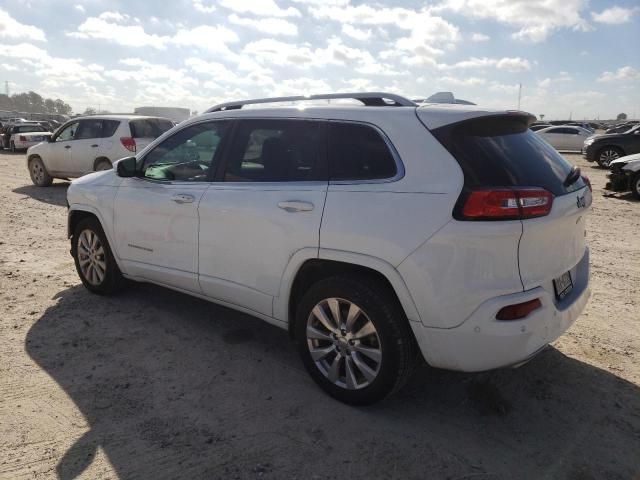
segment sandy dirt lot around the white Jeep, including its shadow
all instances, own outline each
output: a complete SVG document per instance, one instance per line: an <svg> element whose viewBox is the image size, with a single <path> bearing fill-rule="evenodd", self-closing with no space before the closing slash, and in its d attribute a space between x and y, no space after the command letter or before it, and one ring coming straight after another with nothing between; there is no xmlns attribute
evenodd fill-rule
<svg viewBox="0 0 640 480"><path fill-rule="evenodd" d="M640 203L594 185L590 303L517 370L422 368L366 409L284 331L149 285L80 285L66 182L0 154L0 478L640 479Z"/></svg>

